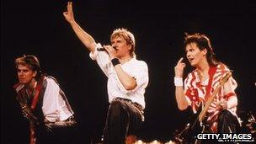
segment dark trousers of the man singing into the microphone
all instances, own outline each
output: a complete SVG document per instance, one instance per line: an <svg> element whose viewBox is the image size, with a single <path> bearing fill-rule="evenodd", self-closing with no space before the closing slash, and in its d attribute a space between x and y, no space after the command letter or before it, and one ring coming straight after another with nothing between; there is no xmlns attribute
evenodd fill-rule
<svg viewBox="0 0 256 144"><path fill-rule="evenodd" d="M104 127L104 144L125 144L125 137L136 134L142 123L140 109L129 99L115 99L109 105Z"/></svg>

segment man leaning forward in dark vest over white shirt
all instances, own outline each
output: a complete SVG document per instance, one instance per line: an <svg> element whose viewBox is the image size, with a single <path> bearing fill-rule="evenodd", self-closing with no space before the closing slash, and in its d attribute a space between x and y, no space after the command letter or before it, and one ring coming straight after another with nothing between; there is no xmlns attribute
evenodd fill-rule
<svg viewBox="0 0 256 144"><path fill-rule="evenodd" d="M29 143L72 142L74 113L56 79L41 72L35 56L18 57L15 65L19 83L13 88L23 115L29 120Z"/></svg>

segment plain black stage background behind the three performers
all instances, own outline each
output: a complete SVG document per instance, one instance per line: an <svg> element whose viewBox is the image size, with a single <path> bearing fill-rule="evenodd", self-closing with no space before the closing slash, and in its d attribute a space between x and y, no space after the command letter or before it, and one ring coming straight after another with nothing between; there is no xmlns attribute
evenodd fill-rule
<svg viewBox="0 0 256 144"><path fill-rule="evenodd" d="M102 135L107 79L64 19L66 5L64 0L1 1L1 143L26 143L27 123L12 88L17 82L13 60L23 54L38 56L43 70L61 83L77 117L77 143ZM190 114L177 108L173 87L173 67L184 56L185 32L211 38L216 58L237 80L238 113L255 111L253 1L77 0L73 10L77 23L97 42L109 44L109 35L120 27L135 35L137 58L147 61L150 77L146 121L139 131L143 141L172 140Z"/></svg>

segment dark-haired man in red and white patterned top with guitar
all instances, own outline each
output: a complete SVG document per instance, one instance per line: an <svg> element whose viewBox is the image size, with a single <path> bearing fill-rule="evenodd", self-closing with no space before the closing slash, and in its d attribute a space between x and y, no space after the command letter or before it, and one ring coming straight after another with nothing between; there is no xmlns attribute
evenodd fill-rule
<svg viewBox="0 0 256 144"><path fill-rule="evenodd" d="M217 61L211 47L211 41L206 35L196 33L184 38L186 58L195 70L189 72L184 79L184 58L180 58L174 67L175 97L180 110L189 106L195 114L200 113L197 121L204 125L204 131L210 133L234 133L240 124L236 114L237 83L230 74L230 69ZM227 77L225 83L221 79ZM205 108L205 109L204 109ZM200 111L202 109L203 111ZM189 125L189 131L195 125ZM194 139L195 137L190 137Z"/></svg>

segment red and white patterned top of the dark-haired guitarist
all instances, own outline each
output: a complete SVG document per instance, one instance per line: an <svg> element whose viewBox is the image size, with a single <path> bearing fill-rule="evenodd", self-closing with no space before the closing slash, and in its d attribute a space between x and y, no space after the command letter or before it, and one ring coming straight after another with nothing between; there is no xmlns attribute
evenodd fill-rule
<svg viewBox="0 0 256 144"><path fill-rule="evenodd" d="M209 99L209 95L217 88L221 77L224 77L227 72L230 72L229 68L224 64L219 64L216 67L211 67L209 70L209 77L205 81L201 82L198 70L195 69L193 72L188 74L188 77L184 80L184 93L189 105L193 109L193 112L196 113L199 109L200 102L205 103ZM210 84L208 85L208 83ZM217 103L221 99L226 99L228 105L233 105L231 97L237 97L235 89L237 88L237 82L233 77L230 77L216 93L216 98L211 103L209 109L207 110L206 122L211 125L211 131L216 132L217 118L220 113L220 109L217 109ZM209 94L207 94L209 93ZM208 96L206 96L208 95ZM232 115L237 116L236 110L237 106L228 109Z"/></svg>

